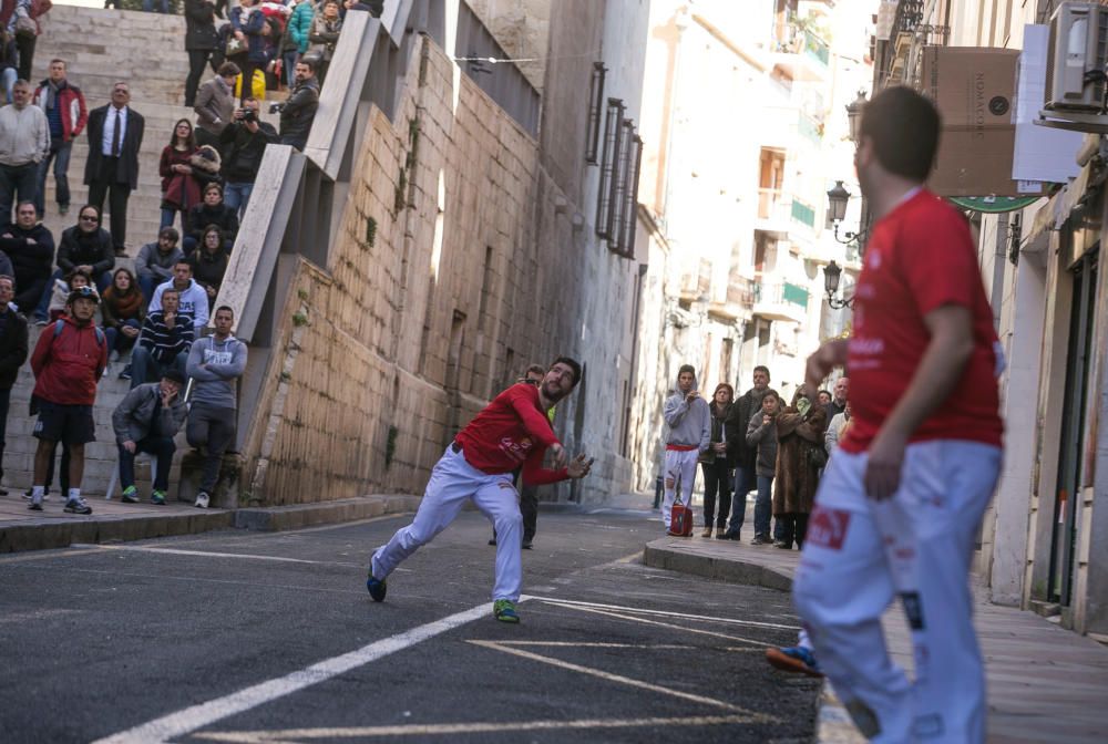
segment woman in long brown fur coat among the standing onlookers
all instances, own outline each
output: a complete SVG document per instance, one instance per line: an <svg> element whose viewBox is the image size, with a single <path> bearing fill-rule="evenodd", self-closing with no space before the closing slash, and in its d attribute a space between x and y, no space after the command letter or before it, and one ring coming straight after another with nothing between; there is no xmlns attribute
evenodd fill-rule
<svg viewBox="0 0 1108 744"><path fill-rule="evenodd" d="M820 469L827 465L823 430L828 413L813 404L799 388L792 405L777 416L777 467L774 468L773 516L780 520L781 539L773 547L791 550L804 546L808 515L815 504Z"/></svg>

